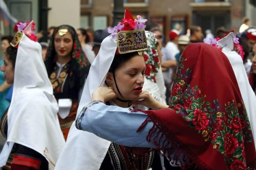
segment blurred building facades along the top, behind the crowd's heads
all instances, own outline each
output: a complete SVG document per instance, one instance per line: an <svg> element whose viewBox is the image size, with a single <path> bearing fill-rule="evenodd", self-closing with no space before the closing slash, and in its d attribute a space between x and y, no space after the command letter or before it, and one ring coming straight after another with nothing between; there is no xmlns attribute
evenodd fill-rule
<svg viewBox="0 0 256 170"><path fill-rule="evenodd" d="M256 25L256 0L123 0L134 17L141 15L162 26L165 35L171 29L186 34L190 25L200 25L212 33L220 26L238 31L242 18ZM35 20L36 30L61 24L94 31L112 25L113 0L4 0L19 21ZM3 21L2 21L3 22ZM1 26L1 34L12 34L12 26ZM168 39L166 39L167 41Z"/></svg>

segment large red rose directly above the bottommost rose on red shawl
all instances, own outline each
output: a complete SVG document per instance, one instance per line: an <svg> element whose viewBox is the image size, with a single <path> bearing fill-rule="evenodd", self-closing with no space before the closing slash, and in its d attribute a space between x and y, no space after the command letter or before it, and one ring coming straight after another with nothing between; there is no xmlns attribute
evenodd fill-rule
<svg viewBox="0 0 256 170"><path fill-rule="evenodd" d="M224 149L227 155L233 155L238 147L237 139L233 134L226 133L224 139Z"/></svg>

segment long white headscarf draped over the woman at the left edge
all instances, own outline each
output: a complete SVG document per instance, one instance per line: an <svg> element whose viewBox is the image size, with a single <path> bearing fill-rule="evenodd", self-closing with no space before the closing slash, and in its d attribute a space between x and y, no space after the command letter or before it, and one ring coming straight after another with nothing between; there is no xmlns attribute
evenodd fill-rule
<svg viewBox="0 0 256 170"><path fill-rule="evenodd" d="M32 23L24 31L31 30ZM41 45L23 34L16 57L12 102L7 113L7 142L0 155L0 166L6 164L13 144L17 143L43 155L49 169L53 169L65 145L57 112Z"/></svg>

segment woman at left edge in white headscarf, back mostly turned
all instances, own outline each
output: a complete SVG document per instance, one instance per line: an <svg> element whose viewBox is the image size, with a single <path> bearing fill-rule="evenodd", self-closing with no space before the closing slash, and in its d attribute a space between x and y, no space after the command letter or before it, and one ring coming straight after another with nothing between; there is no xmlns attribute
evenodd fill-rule
<svg viewBox="0 0 256 170"><path fill-rule="evenodd" d="M1 120L1 133L7 141L0 154L0 167L54 169L65 145L58 103L44 67L42 48L35 42L33 21L16 24L15 30L1 68L7 83L13 83L13 93Z"/></svg>

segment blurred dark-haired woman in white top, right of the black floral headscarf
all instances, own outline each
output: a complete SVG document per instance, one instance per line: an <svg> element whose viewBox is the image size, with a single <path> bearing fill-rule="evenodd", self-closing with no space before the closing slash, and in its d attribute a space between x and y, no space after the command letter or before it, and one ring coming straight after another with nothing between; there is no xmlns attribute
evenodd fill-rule
<svg viewBox="0 0 256 170"><path fill-rule="evenodd" d="M76 30L76 33L87 59L89 60L90 64L92 64L93 60L95 59L95 53L92 51L92 45L87 44L89 42L89 36L87 35L86 30L79 28Z"/></svg>

